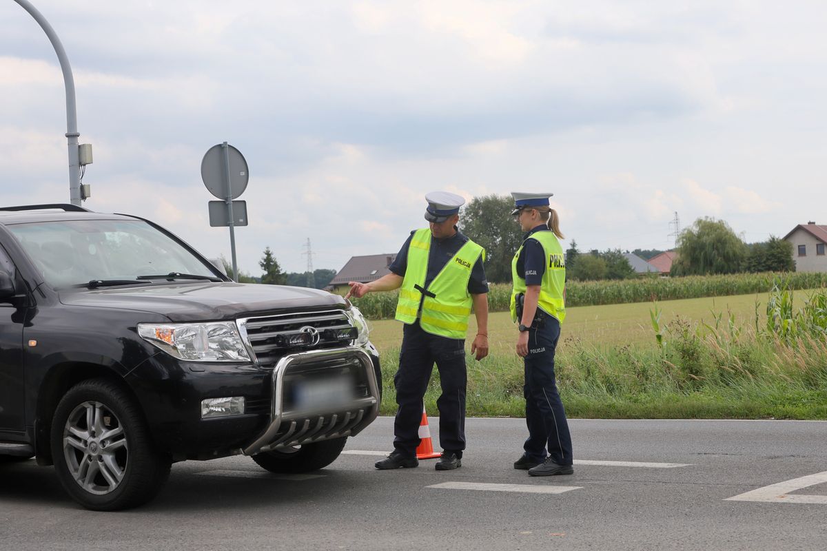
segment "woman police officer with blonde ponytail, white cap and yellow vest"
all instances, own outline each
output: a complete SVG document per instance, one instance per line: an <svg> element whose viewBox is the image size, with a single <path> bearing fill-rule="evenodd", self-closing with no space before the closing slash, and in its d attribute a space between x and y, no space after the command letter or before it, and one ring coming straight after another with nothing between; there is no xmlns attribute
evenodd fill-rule
<svg viewBox="0 0 827 551"><path fill-rule="evenodd" d="M514 468L533 477L571 474L571 435L554 380L554 350L566 317L566 263L552 193L513 192L514 211L526 234L511 263L511 319L519 323L517 354L525 362L525 452ZM546 456L548 449L548 456Z"/></svg>

